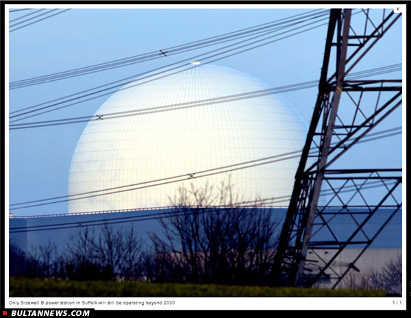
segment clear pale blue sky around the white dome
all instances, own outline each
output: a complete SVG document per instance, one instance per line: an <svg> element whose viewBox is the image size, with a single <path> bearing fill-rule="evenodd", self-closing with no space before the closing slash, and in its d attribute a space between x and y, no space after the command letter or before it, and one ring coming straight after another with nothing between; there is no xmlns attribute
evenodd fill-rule
<svg viewBox="0 0 411 318"><path fill-rule="evenodd" d="M221 6L180 8L176 5L170 8L125 8L118 5L115 9L96 8L92 5L88 7L77 5L76 8L73 8L73 5L65 7L49 5L47 8L51 7L71 10L16 29L8 34L6 64L8 63L10 82L159 51L314 10L314 8L285 9L272 6L269 8L257 6L253 8L222 8ZM10 7L10 10L22 8L27 7L14 5ZM39 10L45 7L30 5L30 8ZM387 9L387 12L393 10L389 6ZM25 19L18 19L19 17L34 10L21 10L9 14L6 10L7 19L5 21L7 23L8 20L17 19L10 22L10 25L18 23ZM381 16L382 10L375 9L372 14ZM36 14L32 16L34 15ZM353 19L359 19L359 16L360 14ZM29 17L27 16L27 19ZM270 87L318 80L323 62L327 19L328 16L325 16L324 25L316 29L216 61L213 64L247 73ZM401 21L402 19L399 19L393 25L383 40L373 47L367 58L362 60L354 71L364 71L402 62ZM353 23L356 23L355 20ZM6 98L8 98L9 108L8 110L6 108L6 112L13 112L124 77L151 71L213 48L198 49L176 56L160 56L161 58L156 60L110 71L8 90ZM401 72L382 76L401 78ZM314 87L282 95L309 124L317 92L318 89ZM108 97L110 95L32 117L20 123L92 115ZM375 131L399 127L402 122L403 117L401 108L399 108L384 121L384 125ZM8 169L9 177L10 204L66 195L71 158L84 127L86 123L10 130L8 152L6 152L9 154L6 169ZM341 167L358 167L364 163L364 158L366 158L369 167L399 168L402 164L402 143L401 135L367 143L364 147L358 147L355 154L345 159ZM64 213L66 209L67 204L63 202L10 212L16 216L49 215Z"/></svg>

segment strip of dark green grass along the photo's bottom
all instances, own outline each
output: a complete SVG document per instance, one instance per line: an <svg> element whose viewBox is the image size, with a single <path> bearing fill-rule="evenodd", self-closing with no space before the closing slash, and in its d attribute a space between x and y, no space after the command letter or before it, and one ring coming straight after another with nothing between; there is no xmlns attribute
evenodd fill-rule
<svg viewBox="0 0 411 318"><path fill-rule="evenodd" d="M385 291L10 278L10 297L384 297L385 295Z"/></svg>

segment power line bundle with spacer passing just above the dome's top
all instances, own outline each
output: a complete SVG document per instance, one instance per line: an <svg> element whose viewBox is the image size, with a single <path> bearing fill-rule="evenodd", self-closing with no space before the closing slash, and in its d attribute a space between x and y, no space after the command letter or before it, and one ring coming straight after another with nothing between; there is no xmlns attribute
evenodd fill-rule
<svg viewBox="0 0 411 318"><path fill-rule="evenodd" d="M121 66L126 66L126 65L130 65L130 64L135 64L138 62L145 62L147 60L153 60L153 59L157 59L157 58L164 58L164 56L162 55L162 53L159 54L159 51L163 51L163 52L167 52L166 56L171 56L171 55L175 55L176 53L183 53L186 51L192 51L192 49L199 49L202 47L208 47L210 45L216 45L219 44L221 42L227 42L230 40L234 40L235 38L238 38L239 36L244 37L244 36L250 36L253 34L258 34L261 32L264 32L266 29L271 29L273 27L277 27L277 29L274 29L273 31L276 31L278 29L283 29L286 27L289 27L290 25L295 25L297 23L302 23L304 22L303 19L307 19L310 17L310 19L316 19L319 18L321 16L324 16L325 14L327 14L327 12L325 10L321 10L321 12L316 12L317 10L314 10L314 12L310 12L309 14L296 14L295 16L290 16L288 18L284 18L284 19L279 19L277 21L271 21L269 23L264 23L262 25L256 25L253 27L249 27L246 29L240 29L237 30L235 32L229 32L226 34L221 34L219 36L213 36L211 38L206 38L203 40L197 40L194 42L188 42L186 44L183 45L177 45L175 47L168 47L165 49L161 49L161 50L156 50L156 51L151 51L151 52L147 52L147 53L143 53L137 56L130 56L127 58L121 58L121 59L117 59L117 60L112 60L110 62L103 62L103 63L99 63L99 64L93 64L90 66L84 66L81 68L77 68L77 69L71 69L68 71L62 71L62 72L58 72L58 73L51 73L48 75L42 75L42 76L38 76L38 77L32 77L29 79L21 79L19 81L15 81L10 83L10 89L14 89L14 88L21 88L21 87L25 87L25 86L32 86L32 85L36 85L36 84L42 84L45 82L52 82L54 80L59 80L59 79L65 79L65 78L70 78L70 77L75 77L75 76L80 76L80 75L86 75L86 74L90 74L90 73L96 73L99 71L105 71L108 69L114 69L116 67L121 67ZM301 15L303 15L301 17ZM292 19L295 18L297 16L300 16L297 19ZM300 21L301 20L301 21ZM286 23L290 23L293 21L297 21L296 23L292 23L289 25L284 25ZM278 27L284 25L282 27ZM258 32L258 33L256 33Z"/></svg>

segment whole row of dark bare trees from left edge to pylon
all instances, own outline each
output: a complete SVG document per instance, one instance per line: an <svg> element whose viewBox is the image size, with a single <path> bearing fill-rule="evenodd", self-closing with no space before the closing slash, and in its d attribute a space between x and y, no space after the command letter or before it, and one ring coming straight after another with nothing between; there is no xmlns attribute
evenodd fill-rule
<svg viewBox="0 0 411 318"><path fill-rule="evenodd" d="M143 243L133 226L84 227L60 253L53 243L29 255L10 245L10 275L264 285L279 220L258 206L237 206L241 199L230 182L216 191L182 188L151 242Z"/></svg>

